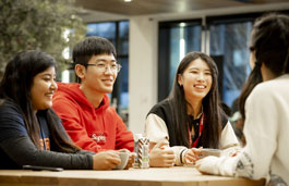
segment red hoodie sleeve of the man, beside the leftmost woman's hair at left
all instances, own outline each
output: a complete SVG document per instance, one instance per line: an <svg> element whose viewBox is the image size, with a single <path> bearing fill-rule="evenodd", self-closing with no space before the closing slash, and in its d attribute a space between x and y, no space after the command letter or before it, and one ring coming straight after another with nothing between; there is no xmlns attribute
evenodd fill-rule
<svg viewBox="0 0 289 186"><path fill-rule="evenodd" d="M73 101L63 97L55 97L53 109L61 119L67 133L79 147L94 152L105 150L88 136L85 126L81 123L79 108Z"/></svg>

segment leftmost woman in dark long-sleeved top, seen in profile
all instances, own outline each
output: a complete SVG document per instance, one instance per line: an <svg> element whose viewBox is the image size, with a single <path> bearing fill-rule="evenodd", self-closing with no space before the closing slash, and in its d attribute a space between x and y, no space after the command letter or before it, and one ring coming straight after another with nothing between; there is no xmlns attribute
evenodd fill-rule
<svg viewBox="0 0 289 186"><path fill-rule="evenodd" d="M8 63L0 84L0 169L113 169L117 152L80 150L65 133L51 109L55 77L56 61L45 52L23 51Z"/></svg>

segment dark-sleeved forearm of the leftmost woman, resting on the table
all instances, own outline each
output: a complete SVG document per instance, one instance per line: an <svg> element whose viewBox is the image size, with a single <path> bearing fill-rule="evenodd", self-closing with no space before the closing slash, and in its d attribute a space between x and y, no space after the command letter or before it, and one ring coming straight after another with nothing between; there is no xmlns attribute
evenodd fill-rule
<svg viewBox="0 0 289 186"><path fill-rule="evenodd" d="M58 166L63 169L93 169L93 157L88 153L62 153L38 150L28 136L9 138L0 142L1 148L16 164Z"/></svg>

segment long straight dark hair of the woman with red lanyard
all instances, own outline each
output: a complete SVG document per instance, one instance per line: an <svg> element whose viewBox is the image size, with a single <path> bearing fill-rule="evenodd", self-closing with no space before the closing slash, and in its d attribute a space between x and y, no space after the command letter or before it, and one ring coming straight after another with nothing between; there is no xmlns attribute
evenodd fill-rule
<svg viewBox="0 0 289 186"><path fill-rule="evenodd" d="M202 52L190 52L188 53L179 64L174 76L174 83L172 90L168 97L170 107L173 111L173 117L176 123L176 138L179 145L190 147L189 136L188 136L188 101L184 97L183 87L178 83L178 76L183 74L186 67L196 59L202 59L205 61L212 73L212 87L209 92L203 99L203 112L205 113L205 123L202 134L202 141L200 141L203 147L207 148L218 148L219 147L219 135L220 135L220 102L218 92L218 69L212 58Z"/></svg>

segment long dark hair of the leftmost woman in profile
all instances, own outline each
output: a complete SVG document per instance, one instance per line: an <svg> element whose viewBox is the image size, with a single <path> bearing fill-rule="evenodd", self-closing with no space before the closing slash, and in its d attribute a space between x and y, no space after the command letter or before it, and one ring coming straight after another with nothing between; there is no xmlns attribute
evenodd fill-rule
<svg viewBox="0 0 289 186"><path fill-rule="evenodd" d="M51 66L56 67L56 61L49 54L36 50L23 51L9 61L0 83L0 98L19 108L28 135L38 149L40 149L39 125L32 106L31 88L34 77ZM52 109L38 112L46 116L58 151L73 152L75 149L80 149L63 131L60 119Z"/></svg>

